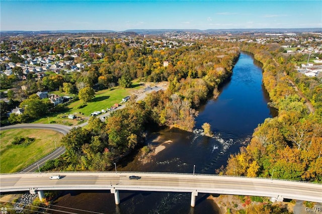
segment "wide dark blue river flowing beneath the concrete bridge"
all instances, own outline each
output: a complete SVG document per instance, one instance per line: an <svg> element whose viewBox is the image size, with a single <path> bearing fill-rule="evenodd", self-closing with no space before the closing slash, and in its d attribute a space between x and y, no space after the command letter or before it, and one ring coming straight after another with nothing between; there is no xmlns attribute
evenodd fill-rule
<svg viewBox="0 0 322 214"><path fill-rule="evenodd" d="M198 110L193 133L178 129L151 133L146 143L157 147L159 152L147 163L133 154L119 163L117 170L192 173L195 165L195 173L214 174L215 169L225 166L229 155L247 144L258 124L276 116L276 111L267 105L269 97L262 85L260 64L247 53L240 54L230 80L220 91L217 99L209 99ZM206 122L215 137L198 132ZM208 196L199 193L192 208L191 193L185 192L120 191L121 202L115 205L114 195L109 192L66 191L54 202L57 206L51 208L76 213L219 213Z"/></svg>

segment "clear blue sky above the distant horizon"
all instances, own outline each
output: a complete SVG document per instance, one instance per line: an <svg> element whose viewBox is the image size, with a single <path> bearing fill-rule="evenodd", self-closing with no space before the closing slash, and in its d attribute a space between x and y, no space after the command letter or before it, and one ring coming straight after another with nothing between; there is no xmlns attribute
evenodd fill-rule
<svg viewBox="0 0 322 214"><path fill-rule="evenodd" d="M322 1L6 1L1 31L322 28Z"/></svg>

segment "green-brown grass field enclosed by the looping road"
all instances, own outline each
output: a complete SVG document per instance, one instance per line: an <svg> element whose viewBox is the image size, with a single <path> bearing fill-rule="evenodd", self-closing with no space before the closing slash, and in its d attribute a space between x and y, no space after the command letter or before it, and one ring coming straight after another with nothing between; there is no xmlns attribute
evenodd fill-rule
<svg viewBox="0 0 322 214"><path fill-rule="evenodd" d="M0 132L0 173L18 172L61 146L63 134L45 129L12 129ZM14 137L29 137L28 146L13 145Z"/></svg>

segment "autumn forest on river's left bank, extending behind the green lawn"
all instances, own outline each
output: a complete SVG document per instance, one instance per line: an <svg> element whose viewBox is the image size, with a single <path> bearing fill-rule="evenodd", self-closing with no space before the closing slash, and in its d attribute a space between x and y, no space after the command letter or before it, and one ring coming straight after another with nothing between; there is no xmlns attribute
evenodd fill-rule
<svg viewBox="0 0 322 214"><path fill-rule="evenodd" d="M48 161L43 170L108 170L113 162L144 141L145 130L151 125L192 131L195 109L209 95L217 95L218 85L231 75L239 56L235 44L217 41L153 52L126 44L114 44L103 50L104 62L79 74L77 81L81 79L91 87L97 79L108 87L128 76L147 81L167 80L169 88L152 92L143 101L127 103L126 108L113 112L104 123L91 118L87 128L72 129L62 139L66 153ZM165 60L169 66L163 66ZM96 78L88 78L91 72Z"/></svg>

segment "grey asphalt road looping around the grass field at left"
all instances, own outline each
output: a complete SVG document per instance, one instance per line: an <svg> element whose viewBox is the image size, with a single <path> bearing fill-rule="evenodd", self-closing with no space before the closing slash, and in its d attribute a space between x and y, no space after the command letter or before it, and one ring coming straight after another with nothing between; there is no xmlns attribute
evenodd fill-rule
<svg viewBox="0 0 322 214"><path fill-rule="evenodd" d="M60 132L63 135L66 135L69 132L69 130L71 130L71 127L57 124L17 124L12 126L0 127L0 131L9 129L51 129ZM58 147L55 151L53 151L46 157L42 158L41 160L35 162L26 169L22 170L22 172L35 172L38 170L38 166L42 167L43 165L45 165L47 160L55 159L62 155L65 151L66 150L64 147Z"/></svg>

